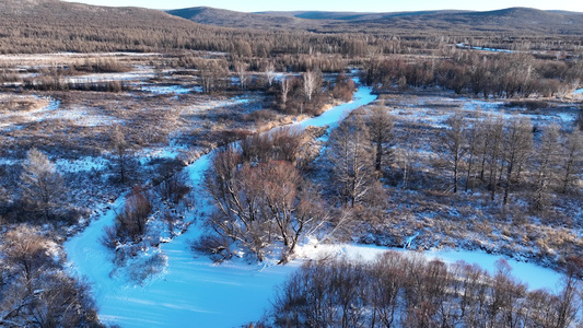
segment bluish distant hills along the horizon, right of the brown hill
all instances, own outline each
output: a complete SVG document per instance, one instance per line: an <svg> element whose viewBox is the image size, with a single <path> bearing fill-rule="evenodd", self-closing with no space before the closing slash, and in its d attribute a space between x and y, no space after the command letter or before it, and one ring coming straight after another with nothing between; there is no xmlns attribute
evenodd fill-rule
<svg viewBox="0 0 583 328"><path fill-rule="evenodd" d="M583 13L509 8L495 11L359 12L259 12L243 13L211 8L191 8L170 13L201 24L254 28L303 28L314 32L373 32L387 28L431 32L518 32L543 34L583 33Z"/></svg>

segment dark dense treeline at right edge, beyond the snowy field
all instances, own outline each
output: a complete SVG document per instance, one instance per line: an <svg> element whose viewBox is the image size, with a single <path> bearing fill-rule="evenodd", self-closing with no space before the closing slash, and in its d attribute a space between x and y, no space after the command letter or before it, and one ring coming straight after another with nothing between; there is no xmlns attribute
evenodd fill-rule
<svg viewBox="0 0 583 328"><path fill-rule="evenodd" d="M455 51L446 59L372 59L365 65L364 81L382 89L438 85L456 93L511 98L562 97L578 87L582 78L583 63L578 60L538 60L528 54Z"/></svg>

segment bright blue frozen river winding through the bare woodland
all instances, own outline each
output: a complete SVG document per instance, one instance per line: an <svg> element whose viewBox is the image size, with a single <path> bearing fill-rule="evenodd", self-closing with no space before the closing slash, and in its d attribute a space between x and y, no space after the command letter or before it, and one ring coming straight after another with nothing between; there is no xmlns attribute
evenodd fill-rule
<svg viewBox="0 0 583 328"><path fill-rule="evenodd" d="M375 99L371 89L360 87L353 102L295 125L302 128L326 125L334 127L349 112ZM193 186L200 185L211 155L212 152L185 167ZM106 324L121 327L238 327L259 319L270 304L275 288L301 265L301 260L285 266L248 265L233 260L217 266L206 257L194 258L188 242L200 230L197 225L191 225L186 233L161 246L168 257L164 272L143 285L135 285L125 278L110 276L114 269L110 250L100 243L103 227L114 223L115 211L124 206L124 196L119 197L110 206L110 210L65 244L70 270L86 277L93 288L100 317ZM300 247L299 253L307 251L307 248ZM359 245L322 245L320 249L363 258L386 250ZM450 255L438 253L434 256L446 261L465 259L481 265L486 261L483 257L492 263L498 259L495 256L471 251L451 251ZM535 288L552 288L558 280L558 274L551 270L523 265L525 267L520 271L515 270L515 273L528 271L535 281L543 281Z"/></svg>

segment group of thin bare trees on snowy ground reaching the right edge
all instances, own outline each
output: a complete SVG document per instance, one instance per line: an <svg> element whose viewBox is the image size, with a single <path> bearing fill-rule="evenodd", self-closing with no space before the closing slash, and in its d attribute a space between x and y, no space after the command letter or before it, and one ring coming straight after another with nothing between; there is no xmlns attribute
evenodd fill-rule
<svg viewBox="0 0 583 328"><path fill-rule="evenodd" d="M439 134L436 152L453 177L456 192L485 184L494 200L502 190L502 203L509 202L513 188L523 185L533 190L533 204L541 210L551 192L567 192L581 172L581 132L561 132L551 124L535 132L527 117L485 115L476 112L467 118L456 112ZM464 177L464 178L462 178Z"/></svg>

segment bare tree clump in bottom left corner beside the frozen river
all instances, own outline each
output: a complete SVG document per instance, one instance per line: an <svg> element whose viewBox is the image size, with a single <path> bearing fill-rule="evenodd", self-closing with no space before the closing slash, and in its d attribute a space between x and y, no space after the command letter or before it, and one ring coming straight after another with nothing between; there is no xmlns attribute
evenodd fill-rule
<svg viewBox="0 0 583 328"><path fill-rule="evenodd" d="M62 271L37 229L0 239L0 326L100 327L88 286Z"/></svg>

